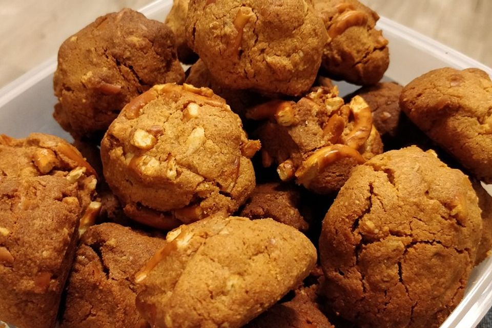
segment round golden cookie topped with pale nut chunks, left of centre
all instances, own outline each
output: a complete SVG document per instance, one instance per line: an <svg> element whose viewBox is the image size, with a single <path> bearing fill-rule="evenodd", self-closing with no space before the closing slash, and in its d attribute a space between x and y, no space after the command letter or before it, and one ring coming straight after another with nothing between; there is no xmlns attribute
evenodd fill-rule
<svg viewBox="0 0 492 328"><path fill-rule="evenodd" d="M157 85L133 99L101 142L104 175L132 219L173 229L233 213L255 188L241 120L207 88Z"/></svg>

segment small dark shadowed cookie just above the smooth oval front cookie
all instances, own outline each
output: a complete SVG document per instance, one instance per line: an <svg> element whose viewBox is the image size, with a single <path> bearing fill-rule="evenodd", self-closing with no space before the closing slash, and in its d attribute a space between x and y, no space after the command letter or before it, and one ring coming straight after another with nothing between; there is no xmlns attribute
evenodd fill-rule
<svg viewBox="0 0 492 328"><path fill-rule="evenodd" d="M299 212L301 196L297 189L284 183L270 182L257 185L239 216L250 219L272 218L300 231L307 231L309 223Z"/></svg>

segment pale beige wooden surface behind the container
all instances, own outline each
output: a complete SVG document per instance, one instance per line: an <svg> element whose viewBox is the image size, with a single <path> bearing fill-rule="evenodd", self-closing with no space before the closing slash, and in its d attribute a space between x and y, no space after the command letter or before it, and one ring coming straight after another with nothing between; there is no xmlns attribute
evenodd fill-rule
<svg viewBox="0 0 492 328"><path fill-rule="evenodd" d="M55 56L95 17L150 0L0 0L0 87ZM362 0L380 15L492 66L492 0ZM390 45L391 47L391 45ZM390 48L391 49L391 48Z"/></svg>

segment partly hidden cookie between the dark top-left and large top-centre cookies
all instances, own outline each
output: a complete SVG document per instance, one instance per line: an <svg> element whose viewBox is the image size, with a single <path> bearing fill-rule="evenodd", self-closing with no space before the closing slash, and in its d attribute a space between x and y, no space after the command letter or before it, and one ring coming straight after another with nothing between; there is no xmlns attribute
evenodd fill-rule
<svg viewBox="0 0 492 328"><path fill-rule="evenodd" d="M196 53L188 47L186 40L185 24L189 3L190 0L174 0L164 22L174 33L179 61L185 64L193 64L198 59Z"/></svg>

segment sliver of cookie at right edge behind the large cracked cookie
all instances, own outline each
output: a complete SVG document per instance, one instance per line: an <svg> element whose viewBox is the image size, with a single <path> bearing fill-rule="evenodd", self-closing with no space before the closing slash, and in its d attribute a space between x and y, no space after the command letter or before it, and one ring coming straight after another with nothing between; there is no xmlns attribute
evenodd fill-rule
<svg viewBox="0 0 492 328"><path fill-rule="evenodd" d="M492 196L483 189L480 181L472 180L471 185L478 197L478 206L482 210L482 239L477 252L475 264L480 264L490 255L492 250Z"/></svg>

